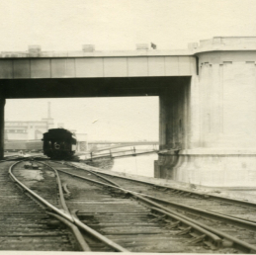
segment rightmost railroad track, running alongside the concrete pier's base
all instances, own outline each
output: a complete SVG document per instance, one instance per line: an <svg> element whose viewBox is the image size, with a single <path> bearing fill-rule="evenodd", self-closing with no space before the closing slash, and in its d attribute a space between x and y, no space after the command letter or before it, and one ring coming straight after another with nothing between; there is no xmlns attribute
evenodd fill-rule
<svg viewBox="0 0 256 255"><path fill-rule="evenodd" d="M81 164L74 164L81 167ZM87 170L88 167L86 167ZM90 168L90 167L89 167ZM84 168L84 170L86 170ZM128 177L113 176L111 174L90 170L99 176L111 177L111 180L118 183L123 188L137 193L148 195L148 198L161 198L163 201L172 203L177 208L187 206L191 211L196 210L200 213L204 211L212 212L214 215L227 215L241 220L256 221L256 204L247 201L235 200L206 193L192 192L188 190L171 188L168 186L156 185L149 182L138 181ZM156 199L157 201L157 199ZM160 200L159 200L160 202Z"/></svg>

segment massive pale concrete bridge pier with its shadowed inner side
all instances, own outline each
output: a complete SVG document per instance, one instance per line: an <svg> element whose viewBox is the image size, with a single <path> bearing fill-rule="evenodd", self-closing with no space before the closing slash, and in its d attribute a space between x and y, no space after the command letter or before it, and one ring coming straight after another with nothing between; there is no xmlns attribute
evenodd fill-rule
<svg viewBox="0 0 256 255"><path fill-rule="evenodd" d="M199 74L192 77L187 96L160 97L162 152L155 167L160 178L212 187L255 187L256 47L246 39L223 41L213 40L198 50ZM189 127L179 130L177 117L185 118L181 108L186 104Z"/></svg>

